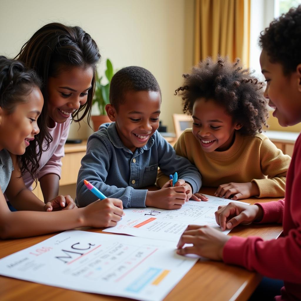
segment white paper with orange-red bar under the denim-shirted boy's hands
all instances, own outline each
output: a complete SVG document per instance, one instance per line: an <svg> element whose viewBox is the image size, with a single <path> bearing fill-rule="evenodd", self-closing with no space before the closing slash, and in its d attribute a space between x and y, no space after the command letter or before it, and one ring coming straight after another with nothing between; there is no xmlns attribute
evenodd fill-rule
<svg viewBox="0 0 301 301"><path fill-rule="evenodd" d="M206 194L205 194L206 195ZM220 197L206 195L207 202L188 201L182 208L175 210L147 208L124 209L125 216L115 227L106 228L104 232L129 234L139 237L178 242L188 225L209 225L221 231L216 223L215 212L220 205L237 202ZM228 234L231 230L223 231Z"/></svg>

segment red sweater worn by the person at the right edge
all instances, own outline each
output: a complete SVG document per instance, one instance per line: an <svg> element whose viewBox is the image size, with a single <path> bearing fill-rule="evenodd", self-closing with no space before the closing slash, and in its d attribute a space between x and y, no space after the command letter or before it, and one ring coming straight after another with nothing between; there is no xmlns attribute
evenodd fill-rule
<svg viewBox="0 0 301 301"><path fill-rule="evenodd" d="M281 222L284 237L264 241L260 237L231 237L223 249L226 263L241 265L262 275L282 279L286 289L300 292L301 283L301 135L287 173L285 201L262 203L262 222ZM287 282L287 283L286 283ZM293 284L297 284L293 288Z"/></svg>

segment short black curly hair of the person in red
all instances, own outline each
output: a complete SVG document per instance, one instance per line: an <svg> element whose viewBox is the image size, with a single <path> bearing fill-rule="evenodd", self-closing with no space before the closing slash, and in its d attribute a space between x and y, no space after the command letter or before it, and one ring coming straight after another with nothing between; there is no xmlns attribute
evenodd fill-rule
<svg viewBox="0 0 301 301"><path fill-rule="evenodd" d="M280 63L284 75L296 71L301 63L301 5L291 8L260 33L259 45L272 63Z"/></svg>

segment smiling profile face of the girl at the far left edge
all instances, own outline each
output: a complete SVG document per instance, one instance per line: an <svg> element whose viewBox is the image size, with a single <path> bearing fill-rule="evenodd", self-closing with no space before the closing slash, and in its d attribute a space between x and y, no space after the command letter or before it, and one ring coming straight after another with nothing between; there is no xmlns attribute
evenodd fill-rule
<svg viewBox="0 0 301 301"><path fill-rule="evenodd" d="M23 98L26 102L18 103L12 113L0 107L0 150L6 149L15 155L24 154L29 142L39 133L37 119L44 104L39 88L33 88Z"/></svg>

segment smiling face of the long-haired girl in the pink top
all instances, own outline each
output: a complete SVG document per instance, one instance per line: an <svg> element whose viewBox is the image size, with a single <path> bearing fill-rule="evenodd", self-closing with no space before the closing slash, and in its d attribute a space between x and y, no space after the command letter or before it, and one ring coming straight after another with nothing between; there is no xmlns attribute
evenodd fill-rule
<svg viewBox="0 0 301 301"><path fill-rule="evenodd" d="M61 70L56 77L49 77L47 83L47 113L57 123L64 123L74 111L87 102L93 78L92 67Z"/></svg>

